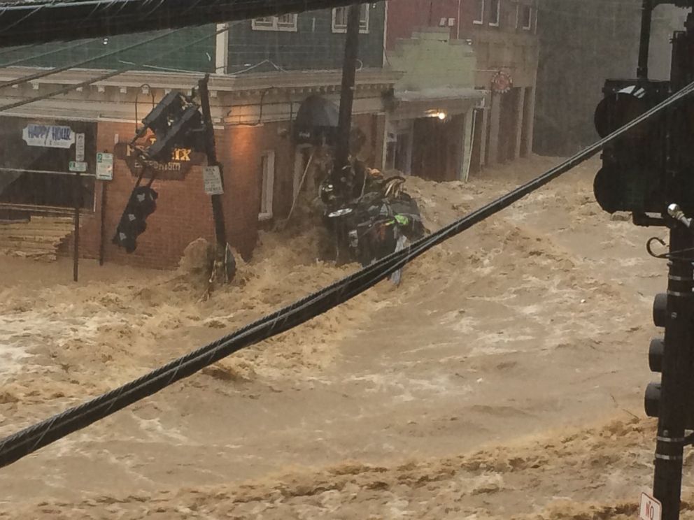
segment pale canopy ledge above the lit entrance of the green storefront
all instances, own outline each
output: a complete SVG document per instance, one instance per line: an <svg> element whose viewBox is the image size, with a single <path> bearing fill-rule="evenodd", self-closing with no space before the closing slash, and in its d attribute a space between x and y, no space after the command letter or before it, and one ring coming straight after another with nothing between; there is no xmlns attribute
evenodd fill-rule
<svg viewBox="0 0 694 520"><path fill-rule="evenodd" d="M396 90L391 119L418 119L429 116L432 111L445 112L447 115L465 114L485 96L483 90L465 87Z"/></svg>

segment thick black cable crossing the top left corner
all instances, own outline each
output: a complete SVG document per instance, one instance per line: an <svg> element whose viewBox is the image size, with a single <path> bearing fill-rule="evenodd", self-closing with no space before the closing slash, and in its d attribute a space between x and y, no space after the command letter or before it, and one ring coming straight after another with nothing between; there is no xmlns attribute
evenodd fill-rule
<svg viewBox="0 0 694 520"><path fill-rule="evenodd" d="M350 0L0 1L0 47L175 29L347 6Z"/></svg>

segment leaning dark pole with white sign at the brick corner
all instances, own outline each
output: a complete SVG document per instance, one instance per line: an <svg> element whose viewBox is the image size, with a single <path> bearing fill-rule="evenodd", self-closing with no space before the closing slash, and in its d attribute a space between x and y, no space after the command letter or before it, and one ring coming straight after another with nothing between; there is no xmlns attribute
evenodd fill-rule
<svg viewBox="0 0 694 520"><path fill-rule="evenodd" d="M205 128L205 154L207 156L208 167L215 168L215 175L219 175L221 187L224 187L224 173L222 165L217 160L217 150L215 147L215 129L212 124L212 114L210 110L210 93L208 83L210 75L198 82L200 94L200 104L202 108L202 120ZM215 193L211 195L212 216L215 222L215 263L210 277L210 284L219 280L228 283L236 271L236 263L231 254L227 254L227 229L224 222L224 208L222 206L222 195ZM228 258L227 258L228 257Z"/></svg>

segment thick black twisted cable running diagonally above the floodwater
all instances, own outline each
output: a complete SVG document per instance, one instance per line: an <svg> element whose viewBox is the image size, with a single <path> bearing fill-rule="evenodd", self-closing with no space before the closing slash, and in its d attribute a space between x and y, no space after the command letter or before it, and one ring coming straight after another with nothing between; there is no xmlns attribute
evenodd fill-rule
<svg viewBox="0 0 694 520"><path fill-rule="evenodd" d="M302 298L302 300L259 319L235 333L220 338L220 340L212 342L206 347L201 347L186 356L171 361L167 365L118 389L104 393L82 405L72 407L65 412L50 417L50 419L24 428L22 431L4 438L0 441L0 467L13 463L41 449L41 447L45 447L69 435L69 433L85 428L99 419L104 419L104 417L108 417L108 415L122 410L122 408L128 405L136 403L138 400L151 396L157 391L174 384L174 382L197 373L202 368L230 354L234 354L234 352L238 352L244 347L288 331L290 328L307 322L309 319L323 314L323 312L327 312L327 310L336 307L340 303L344 303L350 298L361 294L369 287L373 287L376 283L405 266L406 263L419 257L420 254L444 242L444 240L462 233L462 231L482 222L484 219L495 215L495 213L509 207L509 205L520 200L520 198L575 168L581 162L590 159L597 152L600 152L607 143L653 117L653 115L660 113L660 111L665 110L665 108L677 103L677 101L688 96L693 91L694 82L621 129L590 145L582 152L574 155L574 157L567 159L501 198L484 205L466 217L462 217L452 224L439 229L439 231L432 233L432 235L418 240L404 250L392 253L372 266L358 270L356 273L338 280L329 287L325 287L325 289L306 296L306 298Z"/></svg>

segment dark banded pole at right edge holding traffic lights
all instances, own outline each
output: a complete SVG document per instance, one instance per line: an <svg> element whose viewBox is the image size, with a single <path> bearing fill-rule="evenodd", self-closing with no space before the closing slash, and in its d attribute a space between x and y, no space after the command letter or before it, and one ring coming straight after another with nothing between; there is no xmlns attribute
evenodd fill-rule
<svg viewBox="0 0 694 520"><path fill-rule="evenodd" d="M644 3L651 0L644 0ZM644 19L650 15L644 11ZM675 33L672 39L672 70L670 89L677 92L694 78L691 48L694 42L693 15L690 13L686 31ZM641 55L644 55L643 38ZM647 49L645 51L647 60ZM639 59L639 73L648 71L647 62ZM686 170L691 172L691 157L687 157L691 124L682 117L686 108L678 107L667 114L668 177ZM676 196L676 194L670 194ZM691 220L686 219L677 206L670 209L670 262L668 263L665 341L662 354L660 398L658 400L658 434L656 438L653 496L663 505L662 520L679 519L682 486L682 458L686 439L685 429L690 427L692 347L694 346L694 233Z"/></svg>

